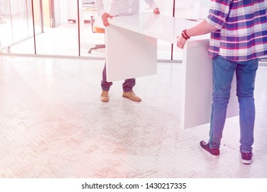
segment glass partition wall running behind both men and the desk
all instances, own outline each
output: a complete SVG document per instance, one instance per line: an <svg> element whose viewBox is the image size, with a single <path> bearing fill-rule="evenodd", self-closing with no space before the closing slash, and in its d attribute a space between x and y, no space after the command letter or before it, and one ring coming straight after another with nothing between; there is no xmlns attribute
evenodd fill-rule
<svg viewBox="0 0 267 192"><path fill-rule="evenodd" d="M154 1L161 14L196 21L201 19L201 4L209 2ZM140 0L140 8L141 11L149 9L143 0ZM208 5L206 8L208 10ZM194 15L186 14L190 12ZM0 0L0 53L105 58L105 49L88 53L94 45L105 44L104 34L94 32L95 14L94 1ZM158 40L157 58L181 60L181 49Z"/></svg>

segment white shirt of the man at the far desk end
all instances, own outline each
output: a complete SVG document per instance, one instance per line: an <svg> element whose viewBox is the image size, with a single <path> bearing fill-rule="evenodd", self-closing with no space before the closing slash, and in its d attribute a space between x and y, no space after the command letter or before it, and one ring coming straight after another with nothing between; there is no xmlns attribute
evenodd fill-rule
<svg viewBox="0 0 267 192"><path fill-rule="evenodd" d="M138 14L140 10L139 0L104 0L110 1L110 8L104 8L103 0L95 0L97 7L97 14L101 17L105 12L112 16L123 16ZM144 0L149 5L149 8L155 10L157 4L153 0Z"/></svg>

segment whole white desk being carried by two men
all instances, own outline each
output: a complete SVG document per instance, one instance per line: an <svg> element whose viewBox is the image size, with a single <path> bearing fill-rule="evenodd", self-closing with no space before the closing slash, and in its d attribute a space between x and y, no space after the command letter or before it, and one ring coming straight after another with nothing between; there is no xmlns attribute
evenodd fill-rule
<svg viewBox="0 0 267 192"><path fill-rule="evenodd" d="M183 29L194 21L141 12L109 20L105 31L107 81L157 73L157 39L176 45ZM209 123L212 104L212 60L207 56L209 35L190 38L183 49L183 86L181 88L181 126L190 128ZM238 101L229 102L227 117L238 115Z"/></svg>

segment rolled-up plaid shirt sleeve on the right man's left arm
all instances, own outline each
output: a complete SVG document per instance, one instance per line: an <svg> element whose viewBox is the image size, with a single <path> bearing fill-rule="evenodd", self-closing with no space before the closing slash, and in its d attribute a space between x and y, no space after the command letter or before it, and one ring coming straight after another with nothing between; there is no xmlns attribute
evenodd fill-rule
<svg viewBox="0 0 267 192"><path fill-rule="evenodd" d="M231 0L212 0L206 19L207 23L221 29L225 25L231 2Z"/></svg>

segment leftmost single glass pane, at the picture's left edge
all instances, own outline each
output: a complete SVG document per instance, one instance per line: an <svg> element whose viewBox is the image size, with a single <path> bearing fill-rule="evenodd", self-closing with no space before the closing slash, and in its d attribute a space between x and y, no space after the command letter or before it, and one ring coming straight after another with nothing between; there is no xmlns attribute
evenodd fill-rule
<svg viewBox="0 0 267 192"><path fill-rule="evenodd" d="M0 0L0 51L34 54L34 20L31 0ZM35 14L36 32L40 16Z"/></svg>

